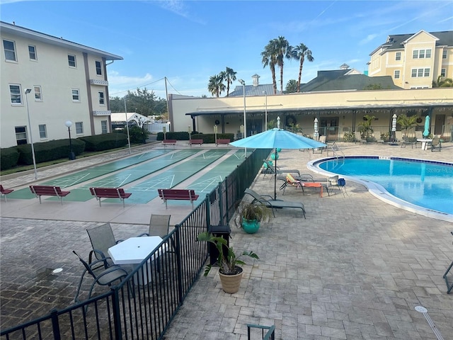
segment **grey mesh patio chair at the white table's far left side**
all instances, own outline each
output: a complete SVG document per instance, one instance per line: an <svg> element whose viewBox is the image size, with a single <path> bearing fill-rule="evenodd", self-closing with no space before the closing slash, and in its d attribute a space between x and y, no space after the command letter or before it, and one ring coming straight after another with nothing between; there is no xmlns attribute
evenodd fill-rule
<svg viewBox="0 0 453 340"><path fill-rule="evenodd" d="M115 240L113 235L112 227L110 223L105 223L98 227L86 229L88 237L90 237L91 246L93 250L90 251L88 263L93 263L93 255L97 260L104 261L104 267L107 268L109 264L112 264L112 260L108 256L108 249L110 246L114 246L118 242L122 242L122 239Z"/></svg>

